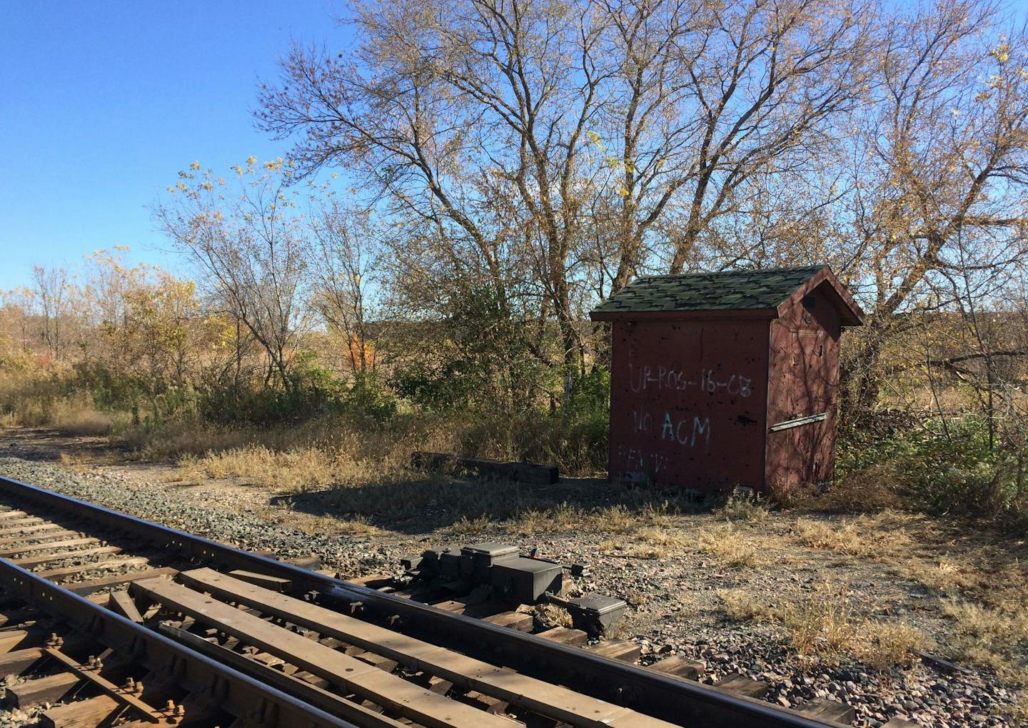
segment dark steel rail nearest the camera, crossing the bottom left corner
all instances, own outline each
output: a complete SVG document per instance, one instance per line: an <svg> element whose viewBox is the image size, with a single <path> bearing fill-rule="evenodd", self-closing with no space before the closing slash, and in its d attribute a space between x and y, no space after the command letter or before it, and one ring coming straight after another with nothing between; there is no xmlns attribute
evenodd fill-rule
<svg viewBox="0 0 1028 728"><path fill-rule="evenodd" d="M67 622L76 629L76 634L89 635L116 654L141 664L150 675L174 679L188 691L191 703L224 711L238 719L240 725L358 728L5 559L0 559L0 583L19 597Z"/></svg>

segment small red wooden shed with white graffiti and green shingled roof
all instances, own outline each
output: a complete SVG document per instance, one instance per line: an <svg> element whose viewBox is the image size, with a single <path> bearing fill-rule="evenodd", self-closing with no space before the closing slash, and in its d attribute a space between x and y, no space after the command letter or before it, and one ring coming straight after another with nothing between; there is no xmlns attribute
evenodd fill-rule
<svg viewBox="0 0 1028 728"><path fill-rule="evenodd" d="M827 265L641 278L591 318L613 327L612 479L832 480L839 337L864 313Z"/></svg>

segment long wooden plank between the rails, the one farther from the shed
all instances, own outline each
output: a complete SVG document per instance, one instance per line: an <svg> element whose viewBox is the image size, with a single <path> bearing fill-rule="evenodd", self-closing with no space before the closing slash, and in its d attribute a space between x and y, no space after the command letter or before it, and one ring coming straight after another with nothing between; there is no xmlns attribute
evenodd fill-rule
<svg viewBox="0 0 1028 728"><path fill-rule="evenodd" d="M237 585L236 588L244 591L257 590L271 598L291 599L291 597L282 596L277 592L247 584L238 579L217 574L217 572L211 572L211 574L217 575L233 587ZM506 718L489 716L473 707L462 705L413 683L408 683L403 678L383 672L366 662L361 662L307 640L296 632L268 624L260 617L254 617L224 603L208 598L168 579L137 581L131 588L133 591L145 593L169 609L183 612L201 622L216 625L241 642L277 654L291 664L321 676L331 683L429 728L449 728L450 726L514 728L518 725ZM215 594L215 596L218 595ZM298 599L291 600L299 602ZM262 611L265 611L263 603L260 604ZM300 602L300 604L305 603Z"/></svg>

